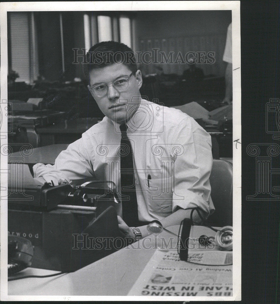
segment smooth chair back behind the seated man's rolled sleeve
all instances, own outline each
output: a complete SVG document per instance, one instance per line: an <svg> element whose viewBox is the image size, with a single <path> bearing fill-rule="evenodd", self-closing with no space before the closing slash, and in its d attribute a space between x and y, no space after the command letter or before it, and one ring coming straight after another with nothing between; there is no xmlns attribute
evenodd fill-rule
<svg viewBox="0 0 280 304"><path fill-rule="evenodd" d="M233 225L233 165L230 161L213 160L210 174L211 198L215 212L208 224L216 227Z"/></svg>

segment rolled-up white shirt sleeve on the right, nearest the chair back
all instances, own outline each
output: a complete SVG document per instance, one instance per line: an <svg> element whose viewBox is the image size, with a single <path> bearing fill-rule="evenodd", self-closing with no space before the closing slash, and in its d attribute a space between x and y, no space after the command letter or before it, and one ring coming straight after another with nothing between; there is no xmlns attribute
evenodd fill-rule
<svg viewBox="0 0 280 304"><path fill-rule="evenodd" d="M209 215L215 210L209 182L213 163L211 136L191 117L178 124L173 136L183 153L175 160L172 210L177 206L199 207Z"/></svg>

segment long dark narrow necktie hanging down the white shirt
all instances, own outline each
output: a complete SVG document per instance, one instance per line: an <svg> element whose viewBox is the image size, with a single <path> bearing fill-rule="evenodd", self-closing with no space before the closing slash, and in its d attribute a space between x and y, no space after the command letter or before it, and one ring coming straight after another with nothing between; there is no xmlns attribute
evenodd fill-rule
<svg viewBox="0 0 280 304"><path fill-rule="evenodd" d="M123 220L128 226L138 226L138 206L135 188L133 155L126 125L121 130L121 194Z"/></svg>

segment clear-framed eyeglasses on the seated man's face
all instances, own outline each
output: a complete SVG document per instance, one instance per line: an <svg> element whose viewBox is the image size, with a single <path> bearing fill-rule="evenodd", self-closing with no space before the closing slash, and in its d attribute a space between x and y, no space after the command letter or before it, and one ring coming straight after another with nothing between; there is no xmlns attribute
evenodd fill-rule
<svg viewBox="0 0 280 304"><path fill-rule="evenodd" d="M124 76L124 77L121 77L121 78L117 78L116 80L114 80L113 82L110 82L108 84L100 83L98 85L93 85L92 87L90 87L88 85L89 92L93 95L93 97L94 96L103 97L108 93L108 87L110 85L112 85L118 92L124 92L128 88L129 78L134 73L135 72L132 72L129 76Z"/></svg>

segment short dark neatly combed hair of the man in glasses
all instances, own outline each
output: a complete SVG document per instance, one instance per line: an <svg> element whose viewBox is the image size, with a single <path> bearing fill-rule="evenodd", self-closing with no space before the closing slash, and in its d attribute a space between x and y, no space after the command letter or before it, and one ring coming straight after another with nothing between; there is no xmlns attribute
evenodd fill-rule
<svg viewBox="0 0 280 304"><path fill-rule="evenodd" d="M89 81L89 73L94 68L105 67L108 64L123 63L131 72L137 71L133 50L124 43L103 41L89 49L83 61L83 71Z"/></svg>

